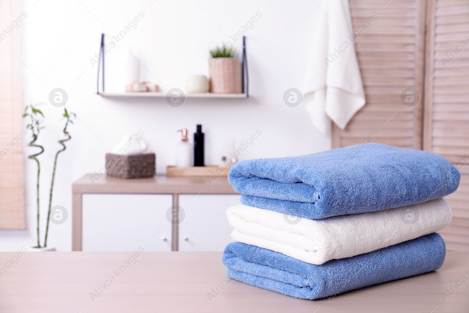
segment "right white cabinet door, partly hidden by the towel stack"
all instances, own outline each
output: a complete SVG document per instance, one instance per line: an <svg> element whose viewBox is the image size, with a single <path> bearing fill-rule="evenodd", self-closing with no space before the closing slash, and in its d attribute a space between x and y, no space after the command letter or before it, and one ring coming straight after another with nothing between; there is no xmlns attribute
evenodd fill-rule
<svg viewBox="0 0 469 313"><path fill-rule="evenodd" d="M179 224L179 251L223 251L232 242L227 208L240 195L179 195L184 220ZM179 214L182 217L182 214Z"/></svg>

